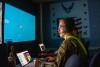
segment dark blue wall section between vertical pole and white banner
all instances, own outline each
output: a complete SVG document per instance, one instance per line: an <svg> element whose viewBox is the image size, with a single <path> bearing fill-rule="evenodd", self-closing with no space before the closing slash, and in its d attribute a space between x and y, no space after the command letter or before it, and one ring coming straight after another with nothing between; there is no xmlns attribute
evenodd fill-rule
<svg viewBox="0 0 100 67"><path fill-rule="evenodd" d="M46 47L59 46L63 39L51 39L50 3L43 3L43 43Z"/></svg>

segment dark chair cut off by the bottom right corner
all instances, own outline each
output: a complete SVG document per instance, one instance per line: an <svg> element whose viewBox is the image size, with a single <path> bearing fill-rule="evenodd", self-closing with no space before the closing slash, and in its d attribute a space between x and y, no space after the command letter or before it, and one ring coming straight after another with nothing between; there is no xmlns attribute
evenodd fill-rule
<svg viewBox="0 0 100 67"><path fill-rule="evenodd" d="M91 58L89 67L100 67L100 49Z"/></svg>

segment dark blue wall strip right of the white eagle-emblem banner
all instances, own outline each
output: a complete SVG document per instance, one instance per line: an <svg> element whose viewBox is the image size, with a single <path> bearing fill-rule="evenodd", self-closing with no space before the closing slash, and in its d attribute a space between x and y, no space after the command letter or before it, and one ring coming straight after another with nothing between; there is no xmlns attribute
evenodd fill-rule
<svg viewBox="0 0 100 67"><path fill-rule="evenodd" d="M100 4L99 0L91 1L88 0L89 4L89 17L90 17L90 40L91 45L90 47L100 47Z"/></svg>

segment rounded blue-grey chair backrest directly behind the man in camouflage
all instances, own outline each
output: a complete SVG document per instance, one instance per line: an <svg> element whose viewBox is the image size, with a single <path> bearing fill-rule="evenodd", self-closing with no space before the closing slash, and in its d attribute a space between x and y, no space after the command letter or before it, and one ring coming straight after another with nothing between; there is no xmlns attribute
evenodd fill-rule
<svg viewBox="0 0 100 67"><path fill-rule="evenodd" d="M67 60L65 67L84 67L84 63L82 59L78 55L72 55Z"/></svg>

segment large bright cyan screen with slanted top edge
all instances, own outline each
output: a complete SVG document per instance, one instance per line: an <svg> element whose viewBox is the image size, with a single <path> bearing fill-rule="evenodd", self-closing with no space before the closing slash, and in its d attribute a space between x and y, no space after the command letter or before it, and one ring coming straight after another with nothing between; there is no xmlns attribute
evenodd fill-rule
<svg viewBox="0 0 100 67"><path fill-rule="evenodd" d="M36 16L5 3L4 43L35 40Z"/></svg>

